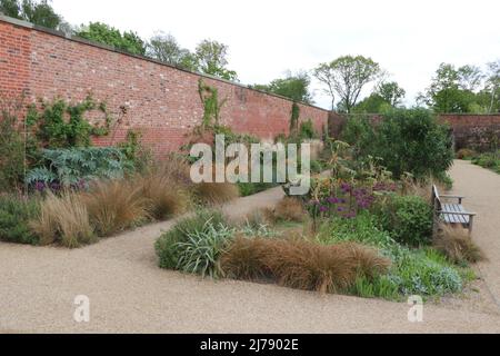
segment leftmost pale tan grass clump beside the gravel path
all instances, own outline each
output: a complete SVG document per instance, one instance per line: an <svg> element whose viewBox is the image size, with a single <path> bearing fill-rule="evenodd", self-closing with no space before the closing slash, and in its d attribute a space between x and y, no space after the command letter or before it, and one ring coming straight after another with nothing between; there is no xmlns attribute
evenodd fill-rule
<svg viewBox="0 0 500 356"><path fill-rule="evenodd" d="M57 197L49 192L41 202L40 216L31 224L40 244L60 243L74 248L96 241L89 214L81 195L66 192Z"/></svg>

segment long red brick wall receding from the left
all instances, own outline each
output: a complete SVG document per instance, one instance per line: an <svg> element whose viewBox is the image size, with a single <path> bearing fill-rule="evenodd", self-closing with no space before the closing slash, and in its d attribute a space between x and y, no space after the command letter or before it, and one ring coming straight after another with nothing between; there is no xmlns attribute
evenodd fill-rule
<svg viewBox="0 0 500 356"><path fill-rule="evenodd" d="M128 108L116 132L98 145L140 130L146 145L157 152L179 148L186 135L201 122L203 108L198 93L199 75L151 60L123 55L81 40L70 40L27 23L0 18L0 92L27 92L28 101L62 97L82 100L88 93L106 101L118 116ZM227 99L221 123L233 131L272 139L289 132L292 102L212 78L206 83ZM301 120L312 119L321 130L328 111L301 105Z"/></svg>

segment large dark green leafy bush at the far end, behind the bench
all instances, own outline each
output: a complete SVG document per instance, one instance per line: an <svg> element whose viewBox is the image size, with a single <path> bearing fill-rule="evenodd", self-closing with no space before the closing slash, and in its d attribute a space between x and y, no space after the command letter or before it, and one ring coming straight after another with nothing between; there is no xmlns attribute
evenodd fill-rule
<svg viewBox="0 0 500 356"><path fill-rule="evenodd" d="M404 172L416 178L439 176L453 162L448 126L424 109L392 109L373 125L367 118L351 118L343 139L358 148L359 157L382 158L394 178Z"/></svg>

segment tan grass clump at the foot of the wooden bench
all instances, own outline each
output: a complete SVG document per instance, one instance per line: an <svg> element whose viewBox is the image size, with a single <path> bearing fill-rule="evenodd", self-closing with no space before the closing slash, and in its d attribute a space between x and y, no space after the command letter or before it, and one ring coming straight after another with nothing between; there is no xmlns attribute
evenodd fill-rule
<svg viewBox="0 0 500 356"><path fill-rule="evenodd" d="M432 245L456 264L478 263L486 259L482 250L472 241L469 231L461 227L441 224Z"/></svg>

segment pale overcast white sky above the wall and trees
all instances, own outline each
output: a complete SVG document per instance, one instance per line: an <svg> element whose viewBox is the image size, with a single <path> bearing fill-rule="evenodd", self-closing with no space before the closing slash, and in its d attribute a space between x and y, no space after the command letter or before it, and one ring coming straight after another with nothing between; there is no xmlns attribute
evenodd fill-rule
<svg viewBox="0 0 500 356"><path fill-rule="evenodd" d="M203 39L223 42L228 67L244 85L362 55L406 89L409 106L441 62L483 66L500 58L498 0L52 0L52 6L72 24L101 21L144 39L163 31L190 50ZM316 105L330 108L316 81L312 92Z"/></svg>

